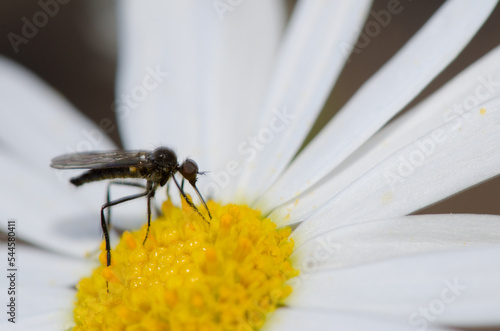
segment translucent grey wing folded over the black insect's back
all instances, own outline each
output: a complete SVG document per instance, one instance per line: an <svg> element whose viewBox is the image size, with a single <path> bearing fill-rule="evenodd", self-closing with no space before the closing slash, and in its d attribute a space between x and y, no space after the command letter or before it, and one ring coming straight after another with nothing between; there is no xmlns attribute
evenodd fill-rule
<svg viewBox="0 0 500 331"><path fill-rule="evenodd" d="M144 161L148 151L110 151L65 154L52 159L56 169L121 168Z"/></svg>

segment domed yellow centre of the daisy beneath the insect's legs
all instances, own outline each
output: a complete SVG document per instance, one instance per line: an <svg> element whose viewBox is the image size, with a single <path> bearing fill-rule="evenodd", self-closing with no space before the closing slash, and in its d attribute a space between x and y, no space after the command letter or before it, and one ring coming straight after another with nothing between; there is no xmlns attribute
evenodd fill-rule
<svg viewBox="0 0 500 331"><path fill-rule="evenodd" d="M207 224L169 201L164 215L125 232L78 284L74 330L255 330L291 293L290 228L246 206L210 201ZM106 282L108 283L109 293Z"/></svg>

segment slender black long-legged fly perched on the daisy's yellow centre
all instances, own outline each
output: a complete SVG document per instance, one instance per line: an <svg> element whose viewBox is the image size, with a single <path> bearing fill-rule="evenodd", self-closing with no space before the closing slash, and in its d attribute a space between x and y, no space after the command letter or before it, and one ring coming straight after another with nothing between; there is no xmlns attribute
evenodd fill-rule
<svg viewBox="0 0 500 331"><path fill-rule="evenodd" d="M148 239L149 227L151 224L151 198L154 197L155 191L159 186L163 187L168 180L172 178L184 200L203 217L193 202L187 197L183 185L179 185L179 182L174 176L177 172L183 177L182 183L184 183L185 179L194 188L196 194L207 209L208 216L212 219L207 204L196 187L198 174L203 173L198 171L196 162L189 158L182 164L179 164L175 152L167 147L158 147L152 152L139 150L65 154L52 159L50 166L56 169L89 169L80 176L70 179L70 182L75 186L105 179L142 178L146 180L146 185L130 181L111 181L108 184L107 201L101 207L101 227L106 241L107 266L111 264L111 246L109 242L109 228L111 222L109 207L118 205L122 202L146 197L148 205L148 229L143 241L144 244ZM144 188L145 191L143 193L110 201L110 186L112 184L141 187ZM104 210L106 208L108 208L107 222L104 217ZM205 219L205 217L203 218Z"/></svg>

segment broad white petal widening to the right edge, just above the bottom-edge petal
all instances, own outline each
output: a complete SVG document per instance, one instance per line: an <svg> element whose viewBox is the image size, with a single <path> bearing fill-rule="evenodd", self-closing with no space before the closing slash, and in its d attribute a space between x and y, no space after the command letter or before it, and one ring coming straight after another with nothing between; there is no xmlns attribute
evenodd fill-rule
<svg viewBox="0 0 500 331"><path fill-rule="evenodd" d="M287 304L382 314L415 327L498 325L499 259L500 248L481 248L307 273L292 279Z"/></svg>

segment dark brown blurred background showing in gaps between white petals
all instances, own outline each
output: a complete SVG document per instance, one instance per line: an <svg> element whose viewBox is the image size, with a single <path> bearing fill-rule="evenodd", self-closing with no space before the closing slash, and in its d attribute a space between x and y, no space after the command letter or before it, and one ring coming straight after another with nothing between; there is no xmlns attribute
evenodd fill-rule
<svg viewBox="0 0 500 331"><path fill-rule="evenodd" d="M60 0L61 2L64 2ZM23 17L40 11L39 1L0 0L0 54L35 72L95 122L114 118L116 17L114 0L65 0L37 35L15 52L7 35L21 34ZM46 1L43 1L46 2ZM374 10L389 0L374 1ZM372 38L359 54L351 54L340 79L308 137L310 140L351 95L425 23L444 1L401 1L404 10ZM295 1L287 1L289 12ZM478 2L480 5L480 2ZM460 56L428 86L412 105L500 44L500 8ZM410 105L411 106L411 105ZM0 110L0 114L5 110ZM120 146L118 132L111 138ZM419 213L500 214L500 177L471 188Z"/></svg>

